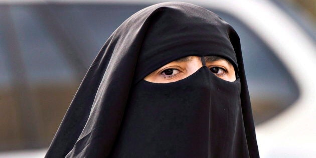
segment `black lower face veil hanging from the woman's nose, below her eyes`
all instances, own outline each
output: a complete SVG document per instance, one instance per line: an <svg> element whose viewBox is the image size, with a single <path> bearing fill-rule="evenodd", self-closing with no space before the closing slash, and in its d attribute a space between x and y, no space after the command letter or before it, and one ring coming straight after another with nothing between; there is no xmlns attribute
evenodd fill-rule
<svg viewBox="0 0 316 158"><path fill-rule="evenodd" d="M239 92L238 79L222 80L207 67L177 82L140 81L112 156L249 157Z"/></svg>

